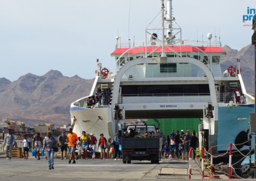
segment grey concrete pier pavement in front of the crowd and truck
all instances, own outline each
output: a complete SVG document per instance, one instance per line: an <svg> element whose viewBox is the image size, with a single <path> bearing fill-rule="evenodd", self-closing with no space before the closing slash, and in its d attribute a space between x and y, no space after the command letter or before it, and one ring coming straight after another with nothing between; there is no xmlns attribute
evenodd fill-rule
<svg viewBox="0 0 256 181"><path fill-rule="evenodd" d="M192 167L197 167L195 162ZM49 171L45 158L39 161L2 158L0 181L176 181L188 180L187 168L188 161L170 159L162 159L159 164L149 161L123 164L122 160L112 159L79 159L76 164L69 164L68 160L55 159L54 170ZM226 180L228 177L220 175L220 178ZM201 175L193 174L192 179L201 181Z"/></svg>

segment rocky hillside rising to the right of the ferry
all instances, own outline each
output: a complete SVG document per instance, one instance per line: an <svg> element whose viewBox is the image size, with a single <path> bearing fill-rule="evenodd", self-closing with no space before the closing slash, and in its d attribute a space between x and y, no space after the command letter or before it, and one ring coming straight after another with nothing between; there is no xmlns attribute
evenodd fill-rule
<svg viewBox="0 0 256 181"><path fill-rule="evenodd" d="M227 55L221 60L222 70L226 70L230 65L238 68L237 59L240 59L241 75L243 77L246 91L254 95L254 46L248 45L241 50L231 49L228 45L222 47L227 52Z"/></svg>

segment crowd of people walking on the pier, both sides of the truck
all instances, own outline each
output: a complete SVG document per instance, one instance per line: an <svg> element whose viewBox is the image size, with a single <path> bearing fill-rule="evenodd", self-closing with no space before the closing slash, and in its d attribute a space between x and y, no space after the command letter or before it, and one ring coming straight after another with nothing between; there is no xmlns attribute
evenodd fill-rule
<svg viewBox="0 0 256 181"><path fill-rule="evenodd" d="M37 133L33 138L32 148L35 150L35 158L40 160L40 156L46 152L48 158L48 170L54 169L54 152L58 151L59 148L61 152L61 160L67 160L67 152L70 152L69 164L71 162L72 164L75 164L76 160L79 158L85 160L89 158L95 159L96 145L100 151L101 160L105 160L106 158L114 160L121 159L122 154L120 147L122 138L120 133L116 133L113 139L106 139L104 134L101 133L99 139L97 139L93 133L89 135L86 134L85 131L82 131L82 136L78 137L77 134L73 132L72 128L69 128L68 131L69 133L67 136L66 132L63 131L58 139L55 139L51 131L47 132L44 139L40 136L40 133ZM166 158L174 158L176 156L177 159L183 160L185 159L186 154L188 159L190 147L192 147L193 158L195 159L195 150L198 142L196 131L193 131L191 135L189 130L186 131L186 134L183 130L181 130L181 132L177 130L176 133L172 130L170 136L167 136L167 139L160 130L157 131L157 134L160 136L160 159L163 156ZM23 135L24 159L28 159L29 142L27 136ZM16 144L11 130L7 130L4 144L6 158L11 160L12 147Z"/></svg>

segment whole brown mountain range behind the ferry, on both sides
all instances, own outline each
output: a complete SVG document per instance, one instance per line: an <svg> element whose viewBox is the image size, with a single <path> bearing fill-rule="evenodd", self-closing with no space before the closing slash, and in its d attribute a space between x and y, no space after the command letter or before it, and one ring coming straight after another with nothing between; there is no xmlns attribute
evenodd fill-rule
<svg viewBox="0 0 256 181"><path fill-rule="evenodd" d="M240 68L246 90L254 94L254 47L248 45L241 50L226 51L221 60L222 70L230 65ZM70 123L69 107L75 100L88 96L94 79L86 80L78 75L67 77L58 70L50 70L38 76L28 73L18 80L0 78L0 119L24 121L28 125L44 122L54 125Z"/></svg>

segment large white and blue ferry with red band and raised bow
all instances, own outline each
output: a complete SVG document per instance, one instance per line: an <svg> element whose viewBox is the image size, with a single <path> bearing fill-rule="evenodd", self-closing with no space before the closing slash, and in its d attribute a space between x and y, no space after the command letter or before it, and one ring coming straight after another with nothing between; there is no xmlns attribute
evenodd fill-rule
<svg viewBox="0 0 256 181"><path fill-rule="evenodd" d="M146 29L144 42L121 43L116 37L111 54L115 71L96 61L90 95L70 106L74 132L113 138L126 119L177 118L180 124L181 118L198 118L200 140L207 147L227 145L214 147L214 154L228 150L230 143L247 140L255 101L246 92L239 65L221 69L226 52L210 33L207 42L182 39L172 0L162 0L160 13L161 27ZM245 96L242 104L235 99L236 87ZM100 90L102 96L98 94L91 106L89 97Z"/></svg>

